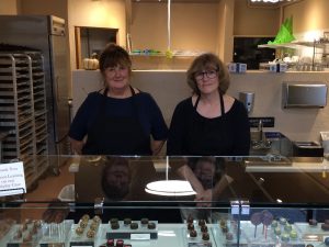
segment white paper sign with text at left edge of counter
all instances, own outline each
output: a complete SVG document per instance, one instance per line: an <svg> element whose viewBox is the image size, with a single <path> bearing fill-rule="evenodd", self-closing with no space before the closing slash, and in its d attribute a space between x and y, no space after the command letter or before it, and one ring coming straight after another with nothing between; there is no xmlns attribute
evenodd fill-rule
<svg viewBox="0 0 329 247"><path fill-rule="evenodd" d="M0 197L26 192L23 162L0 164Z"/></svg>

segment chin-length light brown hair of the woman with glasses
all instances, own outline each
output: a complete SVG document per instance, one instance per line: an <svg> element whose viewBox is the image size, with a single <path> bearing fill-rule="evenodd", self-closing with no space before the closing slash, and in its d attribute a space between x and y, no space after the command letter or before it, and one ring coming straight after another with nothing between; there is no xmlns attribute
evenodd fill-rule
<svg viewBox="0 0 329 247"><path fill-rule="evenodd" d="M205 53L197 56L188 70L188 85L192 88L193 93L200 96L195 74L204 69L217 69L218 76L218 91L225 94L229 87L229 74L224 63L213 53Z"/></svg>

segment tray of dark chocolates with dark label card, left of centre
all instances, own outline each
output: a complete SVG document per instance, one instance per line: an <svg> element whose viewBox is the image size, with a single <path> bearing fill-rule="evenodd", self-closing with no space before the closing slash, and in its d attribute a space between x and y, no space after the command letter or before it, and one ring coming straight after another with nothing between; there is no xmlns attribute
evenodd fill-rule
<svg viewBox="0 0 329 247"><path fill-rule="evenodd" d="M110 238L148 240L158 238L158 221L141 218L133 221L132 218L111 218L105 227L105 236Z"/></svg>

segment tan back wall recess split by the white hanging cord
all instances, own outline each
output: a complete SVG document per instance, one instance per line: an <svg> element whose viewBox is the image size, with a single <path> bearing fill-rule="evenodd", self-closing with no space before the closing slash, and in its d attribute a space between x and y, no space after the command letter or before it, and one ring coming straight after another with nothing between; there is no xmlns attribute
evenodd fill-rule
<svg viewBox="0 0 329 247"><path fill-rule="evenodd" d="M217 3L172 3L171 49L216 52L217 9ZM167 4L133 4L133 49L166 50L167 30Z"/></svg>

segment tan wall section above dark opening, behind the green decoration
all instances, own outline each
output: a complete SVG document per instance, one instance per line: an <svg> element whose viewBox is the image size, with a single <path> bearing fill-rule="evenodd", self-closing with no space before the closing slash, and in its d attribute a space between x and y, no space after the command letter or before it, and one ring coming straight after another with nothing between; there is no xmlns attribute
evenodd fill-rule
<svg viewBox="0 0 329 247"><path fill-rule="evenodd" d="M279 27L279 8L249 8L247 0L235 1L234 35L275 36Z"/></svg>

